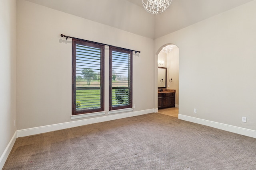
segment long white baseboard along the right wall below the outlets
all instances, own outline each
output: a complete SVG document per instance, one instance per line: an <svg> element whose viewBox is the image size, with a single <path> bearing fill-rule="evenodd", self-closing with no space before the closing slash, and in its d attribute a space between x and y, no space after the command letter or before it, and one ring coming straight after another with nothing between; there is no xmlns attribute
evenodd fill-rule
<svg viewBox="0 0 256 170"><path fill-rule="evenodd" d="M193 123L198 123L201 125L206 125L206 126L214 127L217 129L221 129L224 131L229 131L229 132L237 133L240 135L256 138L256 131L251 130L251 129L227 125L224 123L218 123L218 122L209 121L209 120L205 120L205 119L199 119L196 117L191 117L191 116L181 115L181 114L178 115L178 118L181 120L190 121Z"/></svg>

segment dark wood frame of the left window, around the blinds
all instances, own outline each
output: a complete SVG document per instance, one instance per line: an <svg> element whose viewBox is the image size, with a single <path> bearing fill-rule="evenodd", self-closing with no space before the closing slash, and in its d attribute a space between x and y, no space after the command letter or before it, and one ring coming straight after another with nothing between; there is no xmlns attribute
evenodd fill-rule
<svg viewBox="0 0 256 170"><path fill-rule="evenodd" d="M101 49L100 51L100 108L95 109L81 109L76 110L76 45L84 45L88 47L94 47ZM80 115L85 113L93 113L104 111L104 53L105 53L105 46L100 43L94 43L91 41L81 40L81 39L72 39L72 115Z"/></svg>

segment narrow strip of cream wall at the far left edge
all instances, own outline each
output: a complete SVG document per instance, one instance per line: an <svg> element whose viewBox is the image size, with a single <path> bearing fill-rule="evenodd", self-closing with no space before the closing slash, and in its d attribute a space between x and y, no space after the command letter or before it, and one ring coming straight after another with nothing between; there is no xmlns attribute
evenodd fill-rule
<svg viewBox="0 0 256 170"><path fill-rule="evenodd" d="M16 119L16 0L0 1L0 169L10 152ZM11 149L11 147L10 147Z"/></svg>

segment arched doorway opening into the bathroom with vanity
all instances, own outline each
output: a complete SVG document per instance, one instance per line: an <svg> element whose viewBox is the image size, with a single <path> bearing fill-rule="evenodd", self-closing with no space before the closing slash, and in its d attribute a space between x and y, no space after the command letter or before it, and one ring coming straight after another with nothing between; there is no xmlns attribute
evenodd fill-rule
<svg viewBox="0 0 256 170"><path fill-rule="evenodd" d="M178 117L179 107L179 48L174 44L165 44L158 50L158 68L166 68L166 88L164 92L173 92L175 90L175 105L161 107L161 95L158 95L158 113L163 113ZM161 94L158 89L158 94ZM173 94L173 93L172 93ZM170 95L172 95L170 94ZM166 98L166 97L165 97ZM162 98L163 102L165 98ZM170 99L171 100L171 99ZM168 98L168 101L170 101ZM162 104L163 106L163 104Z"/></svg>

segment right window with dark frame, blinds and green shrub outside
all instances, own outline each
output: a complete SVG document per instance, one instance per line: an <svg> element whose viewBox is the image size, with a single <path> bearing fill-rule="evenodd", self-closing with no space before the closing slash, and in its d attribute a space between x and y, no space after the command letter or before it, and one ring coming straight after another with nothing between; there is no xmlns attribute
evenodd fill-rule
<svg viewBox="0 0 256 170"><path fill-rule="evenodd" d="M109 110L132 107L132 51L110 46Z"/></svg>

